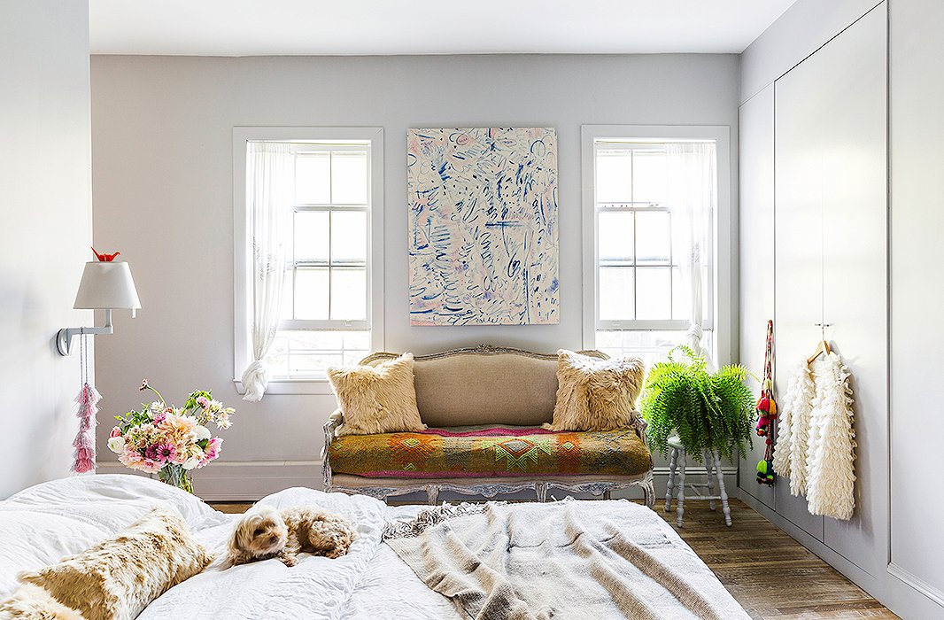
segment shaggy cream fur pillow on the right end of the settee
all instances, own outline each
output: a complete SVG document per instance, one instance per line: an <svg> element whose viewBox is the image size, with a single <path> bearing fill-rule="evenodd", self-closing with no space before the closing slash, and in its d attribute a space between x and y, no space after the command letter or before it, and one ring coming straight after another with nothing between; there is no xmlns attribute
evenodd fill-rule
<svg viewBox="0 0 944 620"><path fill-rule="evenodd" d="M638 358L598 360L557 352L557 403L548 430L615 430L632 427L646 368Z"/></svg>

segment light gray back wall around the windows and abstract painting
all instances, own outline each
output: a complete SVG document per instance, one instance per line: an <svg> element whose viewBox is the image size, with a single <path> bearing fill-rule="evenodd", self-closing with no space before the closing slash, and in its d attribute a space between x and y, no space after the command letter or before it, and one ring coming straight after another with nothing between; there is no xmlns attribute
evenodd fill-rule
<svg viewBox="0 0 944 620"><path fill-rule="evenodd" d="M116 335L100 339L101 419L139 403L142 377L167 397L208 387L235 405L239 415L225 435L222 460L251 466L214 464L197 477L201 493L214 490L200 489L201 478L214 476L228 478L213 483L217 491L264 491L266 483L255 478L277 470L265 467L260 474L262 465L283 461L293 463L278 469L279 476L316 484L312 461L335 405L329 394L237 400L233 126L383 126L384 345L394 351L582 345L582 124L732 126L736 178L738 58L730 55L93 57L92 83L94 238L121 249L143 305L133 321L116 317ZM561 323L410 327L406 129L497 124L558 131ZM103 427L99 437L107 431Z"/></svg>

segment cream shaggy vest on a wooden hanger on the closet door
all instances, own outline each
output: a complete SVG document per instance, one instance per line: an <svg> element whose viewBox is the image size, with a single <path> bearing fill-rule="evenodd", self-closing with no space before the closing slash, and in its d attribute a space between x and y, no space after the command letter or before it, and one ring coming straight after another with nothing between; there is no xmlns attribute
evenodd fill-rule
<svg viewBox="0 0 944 620"><path fill-rule="evenodd" d="M835 353L812 368L802 360L787 387L778 420L773 466L805 494L812 514L852 518L855 508L855 431L849 369Z"/></svg>

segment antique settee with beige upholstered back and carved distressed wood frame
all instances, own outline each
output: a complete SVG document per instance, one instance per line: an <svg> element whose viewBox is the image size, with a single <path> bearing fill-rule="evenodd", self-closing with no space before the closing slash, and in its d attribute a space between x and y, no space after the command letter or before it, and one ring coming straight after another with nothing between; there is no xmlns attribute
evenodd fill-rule
<svg viewBox="0 0 944 620"><path fill-rule="evenodd" d="M581 351L599 359L598 351ZM395 360L375 353L362 364ZM646 421L607 431L554 432L550 422L558 387L557 355L480 345L413 360L413 385L428 429L337 435L344 411L325 425L322 453L326 491L388 497L440 491L493 497L548 489L603 495L640 487L654 501Z"/></svg>

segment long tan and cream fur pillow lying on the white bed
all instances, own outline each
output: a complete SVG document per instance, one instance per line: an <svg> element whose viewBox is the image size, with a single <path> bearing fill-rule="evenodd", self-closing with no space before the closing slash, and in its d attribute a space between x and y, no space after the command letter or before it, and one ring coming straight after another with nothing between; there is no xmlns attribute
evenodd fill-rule
<svg viewBox="0 0 944 620"><path fill-rule="evenodd" d="M85 552L21 574L25 585L0 609L26 610L13 618L132 620L211 560L178 511L155 507ZM64 611L50 607L57 601Z"/></svg>

